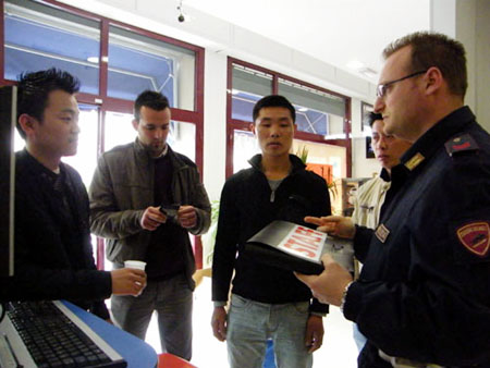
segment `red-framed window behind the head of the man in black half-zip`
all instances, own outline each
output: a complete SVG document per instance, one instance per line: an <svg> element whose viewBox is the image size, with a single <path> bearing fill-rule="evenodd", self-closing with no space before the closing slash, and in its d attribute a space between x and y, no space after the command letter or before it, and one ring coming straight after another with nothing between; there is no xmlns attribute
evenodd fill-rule
<svg viewBox="0 0 490 368"><path fill-rule="evenodd" d="M308 162L317 164L318 170L329 165L334 179L350 176L348 97L232 58L229 75L226 176L248 168L248 159L260 152L249 128L252 112L260 98L271 94L286 97L295 107L293 152L306 147Z"/></svg>

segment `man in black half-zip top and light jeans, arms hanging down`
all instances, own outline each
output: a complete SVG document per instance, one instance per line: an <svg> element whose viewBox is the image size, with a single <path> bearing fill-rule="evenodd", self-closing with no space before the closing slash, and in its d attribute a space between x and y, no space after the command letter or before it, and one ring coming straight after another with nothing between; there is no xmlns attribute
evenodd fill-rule
<svg viewBox="0 0 490 368"><path fill-rule="evenodd" d="M273 340L279 367L311 367L311 353L323 339L328 306L313 299L293 272L247 257L244 244L273 220L305 224L303 218L310 211L330 214L328 187L290 155L295 110L284 97L264 97L253 118L250 127L262 155L252 158L250 169L231 176L221 194L212 263L212 330L218 340L226 340L233 368L261 367L268 339Z"/></svg>

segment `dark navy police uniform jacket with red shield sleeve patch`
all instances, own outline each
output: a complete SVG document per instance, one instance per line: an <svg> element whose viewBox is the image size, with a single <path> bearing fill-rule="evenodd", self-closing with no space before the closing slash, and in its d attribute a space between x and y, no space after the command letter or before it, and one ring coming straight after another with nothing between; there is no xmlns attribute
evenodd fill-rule
<svg viewBox="0 0 490 368"><path fill-rule="evenodd" d="M411 147L389 195L354 240L364 268L343 311L368 338L359 367L490 367L490 136L467 107Z"/></svg>

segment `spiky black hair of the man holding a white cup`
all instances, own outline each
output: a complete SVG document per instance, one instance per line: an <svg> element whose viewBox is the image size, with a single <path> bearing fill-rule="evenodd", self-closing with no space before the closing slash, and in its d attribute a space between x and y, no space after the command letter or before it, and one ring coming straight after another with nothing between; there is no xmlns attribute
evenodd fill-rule
<svg viewBox="0 0 490 368"><path fill-rule="evenodd" d="M19 124L19 116L26 113L42 122L49 94L64 90L74 95L79 90L79 81L69 72L51 68L46 71L24 72L19 75L17 131L23 138L25 132Z"/></svg>

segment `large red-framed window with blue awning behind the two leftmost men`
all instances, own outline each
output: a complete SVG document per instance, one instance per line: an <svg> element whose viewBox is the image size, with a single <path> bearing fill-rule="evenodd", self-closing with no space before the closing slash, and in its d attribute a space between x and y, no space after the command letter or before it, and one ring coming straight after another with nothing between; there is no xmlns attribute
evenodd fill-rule
<svg viewBox="0 0 490 368"><path fill-rule="evenodd" d="M133 101L145 89L169 98L173 121L168 142L201 171L203 48L59 2L0 0L0 85L14 84L23 72L53 66L81 79L78 152L63 161L81 172L87 186L99 154L135 139ZM17 135L15 148L23 146ZM103 244L93 244L100 245L97 263L103 268ZM198 267L199 246L196 242Z"/></svg>

